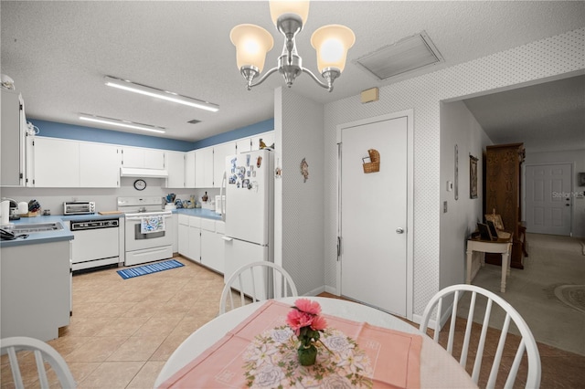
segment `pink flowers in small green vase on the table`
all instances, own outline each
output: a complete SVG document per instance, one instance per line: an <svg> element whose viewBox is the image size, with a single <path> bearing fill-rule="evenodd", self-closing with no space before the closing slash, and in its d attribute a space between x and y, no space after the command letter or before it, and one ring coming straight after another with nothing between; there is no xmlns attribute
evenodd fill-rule
<svg viewBox="0 0 585 389"><path fill-rule="evenodd" d="M286 316L286 323L301 342L297 353L303 366L314 364L317 357L314 342L319 341L319 332L327 327L327 321L320 313L321 306L318 302L298 299L294 301L293 310Z"/></svg>

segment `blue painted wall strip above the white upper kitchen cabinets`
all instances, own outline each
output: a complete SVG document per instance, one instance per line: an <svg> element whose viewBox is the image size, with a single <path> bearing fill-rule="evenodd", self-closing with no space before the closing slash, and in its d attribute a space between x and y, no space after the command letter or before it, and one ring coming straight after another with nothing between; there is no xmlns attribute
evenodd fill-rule
<svg viewBox="0 0 585 389"><path fill-rule="evenodd" d="M186 142L175 139L159 138L156 136L58 123L56 121L41 121L37 119L28 119L28 121L38 127L39 136L72 139L85 142L122 144L122 146L149 147L153 149L173 150L176 152L188 152L207 146L213 146L214 144L229 142L239 138L252 136L257 133L274 130L274 119L269 119L233 131L220 133L201 141Z"/></svg>

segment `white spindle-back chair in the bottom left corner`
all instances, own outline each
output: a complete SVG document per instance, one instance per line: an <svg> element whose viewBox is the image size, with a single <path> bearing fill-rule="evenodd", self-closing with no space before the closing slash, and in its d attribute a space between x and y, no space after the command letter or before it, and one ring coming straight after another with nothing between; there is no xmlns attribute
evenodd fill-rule
<svg viewBox="0 0 585 389"><path fill-rule="evenodd" d="M41 388L48 389L49 387L45 362L47 362L51 369L57 374L59 384L62 388L69 389L77 387L73 375L69 371L69 366L63 357L46 342L26 336L15 336L0 340L0 349L2 350L2 354L8 354L10 370L12 371L12 378L16 389L22 389L25 387L22 373L20 371L20 364L18 362L18 355L16 355L16 352L23 350L33 352L35 356L38 383Z"/></svg>

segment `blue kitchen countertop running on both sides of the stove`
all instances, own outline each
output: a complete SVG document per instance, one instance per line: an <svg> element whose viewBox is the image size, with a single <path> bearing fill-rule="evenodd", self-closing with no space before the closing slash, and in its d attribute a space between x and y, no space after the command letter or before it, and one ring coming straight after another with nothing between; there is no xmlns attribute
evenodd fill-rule
<svg viewBox="0 0 585 389"><path fill-rule="evenodd" d="M174 214L198 216L207 219L221 220L221 215L215 213L211 209L205 208L179 208L172 211ZM52 216L35 216L35 217L21 217L19 220L11 220L10 223L15 226L27 225L27 224L40 224L40 223L60 223L63 229L58 231L43 231L43 232L31 232L25 239L17 238L15 240L2 240L0 241L0 247L14 247L14 246L26 246L34 245L38 243L49 243L57 242L61 240L73 239L73 233L69 230L70 220L103 220L103 219L117 219L123 217L123 214L115 215L100 215L100 214L86 214L86 215L52 215Z"/></svg>

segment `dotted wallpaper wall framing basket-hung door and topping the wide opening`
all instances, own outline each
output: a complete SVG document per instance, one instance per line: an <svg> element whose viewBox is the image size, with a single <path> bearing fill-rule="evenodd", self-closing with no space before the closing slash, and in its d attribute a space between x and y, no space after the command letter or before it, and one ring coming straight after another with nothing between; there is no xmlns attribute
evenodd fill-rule
<svg viewBox="0 0 585 389"><path fill-rule="evenodd" d="M420 314L439 289L440 101L546 79L585 68L585 28L408 79L380 89L379 100L359 96L324 109L324 279L336 288L338 124L414 110L414 301ZM284 149L286 150L286 149ZM288 153L288 150L286 151ZM286 226L286 221L285 221Z"/></svg>

